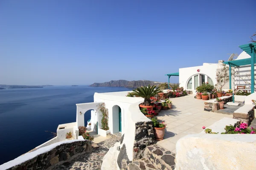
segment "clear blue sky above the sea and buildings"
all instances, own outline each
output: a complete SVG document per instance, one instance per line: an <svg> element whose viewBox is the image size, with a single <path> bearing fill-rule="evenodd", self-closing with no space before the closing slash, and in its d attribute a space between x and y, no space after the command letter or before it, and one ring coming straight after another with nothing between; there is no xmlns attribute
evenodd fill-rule
<svg viewBox="0 0 256 170"><path fill-rule="evenodd" d="M1 0L0 84L166 82L227 60L256 32L255 0ZM178 82L173 77L170 82Z"/></svg>

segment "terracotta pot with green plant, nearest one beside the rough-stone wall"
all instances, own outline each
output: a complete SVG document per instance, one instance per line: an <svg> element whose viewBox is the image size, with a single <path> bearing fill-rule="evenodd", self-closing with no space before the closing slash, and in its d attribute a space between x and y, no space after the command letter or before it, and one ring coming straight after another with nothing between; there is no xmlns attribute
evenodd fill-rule
<svg viewBox="0 0 256 170"><path fill-rule="evenodd" d="M164 122L159 123L157 121L157 118L152 118L151 121L153 122L155 139L157 141L163 140L166 125L164 124Z"/></svg>

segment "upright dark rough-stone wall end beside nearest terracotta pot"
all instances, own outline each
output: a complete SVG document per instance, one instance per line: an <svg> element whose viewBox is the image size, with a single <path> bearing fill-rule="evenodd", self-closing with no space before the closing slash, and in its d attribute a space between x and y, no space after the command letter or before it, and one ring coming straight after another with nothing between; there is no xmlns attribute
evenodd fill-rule
<svg viewBox="0 0 256 170"><path fill-rule="evenodd" d="M153 122L137 122L135 127L134 160L141 159L145 148L154 144Z"/></svg>

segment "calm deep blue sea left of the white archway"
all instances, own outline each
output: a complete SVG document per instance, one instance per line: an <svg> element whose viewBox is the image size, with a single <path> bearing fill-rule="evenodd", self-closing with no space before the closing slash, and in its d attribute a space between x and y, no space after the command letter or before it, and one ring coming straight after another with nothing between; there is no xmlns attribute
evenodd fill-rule
<svg viewBox="0 0 256 170"><path fill-rule="evenodd" d="M0 164L51 139L46 130L76 122L76 103L93 102L95 92L130 90L87 85L0 90ZM90 112L84 117L90 119Z"/></svg>

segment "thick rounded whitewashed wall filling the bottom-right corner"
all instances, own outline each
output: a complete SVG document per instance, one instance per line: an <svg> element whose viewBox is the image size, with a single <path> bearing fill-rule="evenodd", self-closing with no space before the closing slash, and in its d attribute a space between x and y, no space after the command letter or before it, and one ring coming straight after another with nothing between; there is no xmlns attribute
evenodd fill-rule
<svg viewBox="0 0 256 170"><path fill-rule="evenodd" d="M176 144L176 170L255 170L256 135L195 134Z"/></svg>

